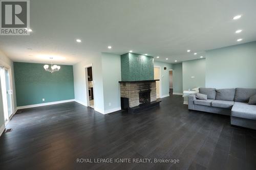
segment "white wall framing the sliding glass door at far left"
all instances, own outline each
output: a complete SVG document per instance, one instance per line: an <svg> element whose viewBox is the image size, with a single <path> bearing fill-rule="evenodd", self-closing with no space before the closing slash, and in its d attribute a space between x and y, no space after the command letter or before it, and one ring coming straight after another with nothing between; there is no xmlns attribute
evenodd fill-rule
<svg viewBox="0 0 256 170"><path fill-rule="evenodd" d="M13 91L12 94L12 108L13 108L13 114L15 114L16 109L17 109L17 104L16 104L16 93L15 93L15 81L14 81L14 70L13 70L13 61L10 60L3 52L0 51L0 65L4 66L6 68L9 68L10 71L10 79L11 79L11 89ZM2 94L0 94L0 97L2 98ZM2 101L0 101L2 102ZM3 112L3 106L2 104L0 105L0 128L3 127L5 121L4 121L4 112ZM11 115L11 116L12 116ZM0 129L1 132L1 129Z"/></svg>

